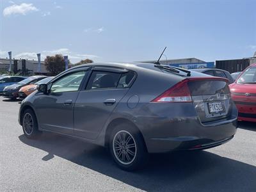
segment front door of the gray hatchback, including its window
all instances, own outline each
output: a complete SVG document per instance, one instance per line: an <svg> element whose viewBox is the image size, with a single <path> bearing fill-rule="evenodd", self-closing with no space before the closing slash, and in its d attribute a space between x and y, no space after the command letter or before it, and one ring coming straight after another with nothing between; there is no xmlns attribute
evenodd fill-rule
<svg viewBox="0 0 256 192"><path fill-rule="evenodd" d="M48 94L36 93L35 106L42 129L74 133L73 108L86 71L70 72L52 83Z"/></svg>

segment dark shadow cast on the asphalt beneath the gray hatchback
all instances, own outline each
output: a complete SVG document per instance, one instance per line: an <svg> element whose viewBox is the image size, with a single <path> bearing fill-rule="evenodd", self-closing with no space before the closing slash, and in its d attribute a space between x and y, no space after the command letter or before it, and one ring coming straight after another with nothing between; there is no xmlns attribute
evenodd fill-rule
<svg viewBox="0 0 256 192"><path fill-rule="evenodd" d="M42 161L59 156L146 191L255 191L256 167L211 152L154 154L145 169L124 172L108 150L66 136L45 132L38 140L20 141L48 152Z"/></svg>

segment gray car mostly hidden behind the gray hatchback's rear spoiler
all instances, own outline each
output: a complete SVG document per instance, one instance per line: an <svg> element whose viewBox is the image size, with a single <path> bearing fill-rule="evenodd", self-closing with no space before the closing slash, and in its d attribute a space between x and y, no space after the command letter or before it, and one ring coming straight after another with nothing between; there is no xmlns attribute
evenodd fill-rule
<svg viewBox="0 0 256 192"><path fill-rule="evenodd" d="M234 83L235 81L227 70L222 70L220 68L192 68L191 70L207 74L209 76L226 78L228 79L228 84Z"/></svg>

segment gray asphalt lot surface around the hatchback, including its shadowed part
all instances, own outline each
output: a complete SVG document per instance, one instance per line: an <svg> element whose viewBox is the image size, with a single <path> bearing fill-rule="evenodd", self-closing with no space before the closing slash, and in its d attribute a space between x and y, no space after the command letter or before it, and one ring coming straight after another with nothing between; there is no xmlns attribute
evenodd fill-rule
<svg viewBox="0 0 256 192"><path fill-rule="evenodd" d="M219 147L154 154L124 172L106 148L50 133L28 140L19 105L0 97L0 191L256 191L256 124L239 123Z"/></svg>

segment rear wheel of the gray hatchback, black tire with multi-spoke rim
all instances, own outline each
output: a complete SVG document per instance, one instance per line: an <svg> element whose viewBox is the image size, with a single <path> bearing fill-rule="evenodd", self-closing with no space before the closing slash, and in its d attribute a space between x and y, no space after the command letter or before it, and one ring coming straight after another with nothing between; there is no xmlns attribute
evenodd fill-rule
<svg viewBox="0 0 256 192"><path fill-rule="evenodd" d="M118 139L119 135L124 135L124 134L126 135L126 138L125 138L126 141L130 138L129 142L127 142L129 144L120 147L120 145L117 144L115 141L116 139ZM135 147L128 148L133 146L131 144L133 141L135 143ZM122 154L120 155L119 154L120 150L119 149L115 150L115 148L123 148L121 152ZM133 153L131 153L131 150L129 149L131 149L132 152L134 152L135 154L134 157L132 156ZM141 136L141 133L138 131L138 129L132 127L129 124L120 124L113 129L109 138L109 150L111 152L111 156L113 157L115 163L122 170L125 170L125 171L139 170L147 164L148 152L147 152L147 148L145 146L143 137ZM118 154L120 155L119 158L118 158ZM124 158L124 161L122 161L123 154L127 160L126 162L125 162L125 158ZM130 157L131 161L128 160L128 156Z"/></svg>

